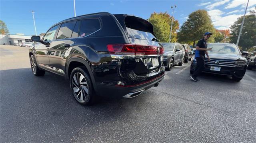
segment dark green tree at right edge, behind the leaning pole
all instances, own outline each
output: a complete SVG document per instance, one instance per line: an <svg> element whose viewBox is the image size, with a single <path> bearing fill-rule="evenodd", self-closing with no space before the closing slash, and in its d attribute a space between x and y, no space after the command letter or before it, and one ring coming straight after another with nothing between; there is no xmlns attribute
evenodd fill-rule
<svg viewBox="0 0 256 143"><path fill-rule="evenodd" d="M230 42L236 43L242 24L243 16L238 18L236 22L230 27ZM245 16L243 29L240 35L240 40L238 46L242 47L243 51L246 51L248 48L256 45L256 16L251 13L250 15Z"/></svg>

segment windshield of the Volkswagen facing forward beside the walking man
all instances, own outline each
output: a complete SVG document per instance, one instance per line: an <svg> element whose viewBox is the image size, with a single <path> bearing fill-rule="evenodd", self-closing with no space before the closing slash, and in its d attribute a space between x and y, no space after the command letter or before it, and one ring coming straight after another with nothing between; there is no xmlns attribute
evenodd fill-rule
<svg viewBox="0 0 256 143"><path fill-rule="evenodd" d="M208 48L211 47L212 51L208 53L240 54L238 47L233 44L208 44Z"/></svg>

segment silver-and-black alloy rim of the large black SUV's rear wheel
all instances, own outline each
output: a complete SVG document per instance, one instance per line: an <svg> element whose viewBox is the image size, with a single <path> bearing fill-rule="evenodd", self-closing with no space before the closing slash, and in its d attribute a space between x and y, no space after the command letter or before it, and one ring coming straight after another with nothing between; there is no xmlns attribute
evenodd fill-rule
<svg viewBox="0 0 256 143"><path fill-rule="evenodd" d="M78 100L84 101L88 98L89 87L83 74L80 72L74 74L72 86Z"/></svg>

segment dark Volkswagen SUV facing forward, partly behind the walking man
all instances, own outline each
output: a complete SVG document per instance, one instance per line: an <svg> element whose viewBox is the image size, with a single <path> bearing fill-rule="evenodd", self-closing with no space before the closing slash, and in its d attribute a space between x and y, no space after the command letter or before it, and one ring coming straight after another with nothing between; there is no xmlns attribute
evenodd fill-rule
<svg viewBox="0 0 256 143"><path fill-rule="evenodd" d="M232 76L234 81L242 80L246 72L247 60L242 57L242 53L235 44L210 43L208 47L212 47L212 51L208 51L211 60L208 61L207 57L204 59L203 72ZM193 58L190 65L191 74L195 67L196 59Z"/></svg>

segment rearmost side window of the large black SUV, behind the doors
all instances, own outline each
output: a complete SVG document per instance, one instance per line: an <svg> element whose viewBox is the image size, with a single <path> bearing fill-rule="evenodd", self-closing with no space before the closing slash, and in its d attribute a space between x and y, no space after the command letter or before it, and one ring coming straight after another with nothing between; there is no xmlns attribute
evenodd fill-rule
<svg viewBox="0 0 256 143"><path fill-rule="evenodd" d="M100 29L100 21L98 19L82 20L79 37L88 36L98 29Z"/></svg>

